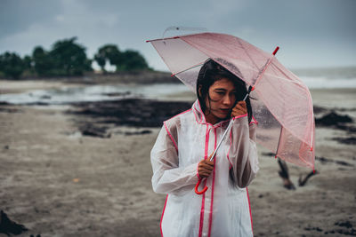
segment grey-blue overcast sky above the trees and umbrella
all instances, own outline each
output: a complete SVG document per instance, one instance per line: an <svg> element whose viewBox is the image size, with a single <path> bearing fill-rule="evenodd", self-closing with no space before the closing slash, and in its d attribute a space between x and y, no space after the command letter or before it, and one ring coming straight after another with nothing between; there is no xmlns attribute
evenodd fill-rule
<svg viewBox="0 0 356 237"><path fill-rule="evenodd" d="M356 66L356 0L0 0L0 53L23 56L77 36L90 58L115 43L167 70L145 40L170 26L239 36L264 51L279 46L277 58L290 68Z"/></svg>

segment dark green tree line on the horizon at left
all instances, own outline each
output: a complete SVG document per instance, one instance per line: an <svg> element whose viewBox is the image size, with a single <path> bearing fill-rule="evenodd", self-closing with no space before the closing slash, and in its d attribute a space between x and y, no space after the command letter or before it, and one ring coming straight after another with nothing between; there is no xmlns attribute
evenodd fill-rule
<svg viewBox="0 0 356 237"><path fill-rule="evenodd" d="M53 43L50 51L36 46L32 55L21 58L15 52L6 51L0 54L0 75L20 78L21 75L70 76L84 75L93 71L92 63L107 73L105 66L115 66L117 72L150 69L146 59L139 51L120 51L116 44L105 44L88 59L85 47L76 43L77 37L59 40Z"/></svg>

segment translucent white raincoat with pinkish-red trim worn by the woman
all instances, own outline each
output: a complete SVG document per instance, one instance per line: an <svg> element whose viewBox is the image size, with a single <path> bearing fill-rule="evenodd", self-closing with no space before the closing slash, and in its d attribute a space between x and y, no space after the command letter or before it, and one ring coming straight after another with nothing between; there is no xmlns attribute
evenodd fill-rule
<svg viewBox="0 0 356 237"><path fill-rule="evenodd" d="M167 194L161 217L165 237L253 236L247 186L255 178L258 158L255 146L255 119L233 118L214 158L214 171L205 194L198 195L198 162L214 152L229 121L206 122L198 100L190 110L164 122L151 151L152 186Z"/></svg>

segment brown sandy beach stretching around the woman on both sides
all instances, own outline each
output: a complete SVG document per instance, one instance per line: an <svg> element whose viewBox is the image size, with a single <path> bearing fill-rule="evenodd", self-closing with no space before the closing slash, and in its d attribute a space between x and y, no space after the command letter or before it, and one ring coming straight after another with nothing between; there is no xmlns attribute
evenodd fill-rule
<svg viewBox="0 0 356 237"><path fill-rule="evenodd" d="M56 88L63 83L75 84L0 81L0 91ZM283 187L277 160L258 146L260 171L248 187L255 236L356 235L356 89L311 92L314 107L319 108L317 118L334 111L353 122L320 123L317 174L298 186L298 178L311 170L288 165L295 190ZM104 105L95 103L0 105L0 209L28 228L19 236L159 236L166 196L152 191L150 149L160 120L190 107L194 100L192 93L172 98L176 103L172 107L149 103L154 105L150 107L142 100L125 103L141 110L125 107L132 110L131 116L122 120L106 117L95 110ZM113 104L107 104L106 111L123 106L110 108ZM149 121L150 111L165 107L166 113ZM141 113L146 123L137 121L135 113Z"/></svg>

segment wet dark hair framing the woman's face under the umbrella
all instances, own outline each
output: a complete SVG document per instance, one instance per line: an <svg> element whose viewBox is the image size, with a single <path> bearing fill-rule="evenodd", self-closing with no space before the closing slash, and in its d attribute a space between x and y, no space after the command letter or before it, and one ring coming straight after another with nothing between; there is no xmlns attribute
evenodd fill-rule
<svg viewBox="0 0 356 237"><path fill-rule="evenodd" d="M209 96L210 86L223 78L229 79L234 84L236 90L236 101L234 106L239 100L243 100L245 98L247 94L246 83L239 79L238 76L233 75L229 70L216 63L214 60L207 59L204 65L200 68L197 79L197 96L203 113L206 113L206 96L209 103L212 100ZM199 93L199 88L201 94ZM251 122L252 107L249 96L247 96L245 101L247 106L248 122Z"/></svg>

